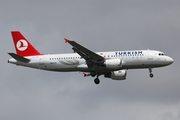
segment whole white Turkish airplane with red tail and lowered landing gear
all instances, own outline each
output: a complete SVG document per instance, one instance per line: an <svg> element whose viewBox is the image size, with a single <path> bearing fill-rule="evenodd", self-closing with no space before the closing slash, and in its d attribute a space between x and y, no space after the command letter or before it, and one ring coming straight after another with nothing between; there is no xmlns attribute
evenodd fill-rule
<svg viewBox="0 0 180 120"><path fill-rule="evenodd" d="M84 77L95 77L99 84L99 76L112 80L125 80L128 69L149 69L163 67L173 63L173 59L156 50L128 50L111 52L93 52L75 41L64 38L65 43L72 46L74 53L41 54L19 32L11 31L16 53L8 53L12 58L8 63L57 72L83 72Z"/></svg>

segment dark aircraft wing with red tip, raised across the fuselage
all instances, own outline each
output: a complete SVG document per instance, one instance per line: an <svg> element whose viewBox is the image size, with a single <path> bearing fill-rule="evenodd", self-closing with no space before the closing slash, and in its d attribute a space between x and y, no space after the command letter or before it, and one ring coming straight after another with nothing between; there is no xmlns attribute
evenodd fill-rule
<svg viewBox="0 0 180 120"><path fill-rule="evenodd" d="M87 63L103 63L104 57L96 54L95 52L81 46L80 44L76 43L75 41L70 41L64 38L65 42L71 44L73 46L74 52L78 53L82 58L84 58Z"/></svg>

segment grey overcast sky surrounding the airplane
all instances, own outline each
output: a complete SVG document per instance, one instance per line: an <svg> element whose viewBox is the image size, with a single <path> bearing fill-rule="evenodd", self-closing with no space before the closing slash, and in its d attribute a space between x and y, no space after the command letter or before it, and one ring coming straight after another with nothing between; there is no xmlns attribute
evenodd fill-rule
<svg viewBox="0 0 180 120"><path fill-rule="evenodd" d="M179 0L0 0L1 120L179 120ZM11 31L43 54L71 53L63 38L92 51L153 49L170 66L128 70L125 81L8 64Z"/></svg>

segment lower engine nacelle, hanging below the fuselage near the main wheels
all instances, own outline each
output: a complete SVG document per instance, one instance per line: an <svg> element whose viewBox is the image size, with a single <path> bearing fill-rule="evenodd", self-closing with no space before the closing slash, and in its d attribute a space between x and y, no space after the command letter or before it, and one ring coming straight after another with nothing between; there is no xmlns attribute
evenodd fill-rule
<svg viewBox="0 0 180 120"><path fill-rule="evenodd" d="M125 80L127 75L126 70L113 71L109 74L105 74L104 77L111 78L113 80Z"/></svg>

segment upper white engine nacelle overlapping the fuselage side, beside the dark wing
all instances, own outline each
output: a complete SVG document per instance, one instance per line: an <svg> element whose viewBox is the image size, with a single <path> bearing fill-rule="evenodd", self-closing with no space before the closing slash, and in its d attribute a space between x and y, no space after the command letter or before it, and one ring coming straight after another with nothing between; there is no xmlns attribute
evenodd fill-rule
<svg viewBox="0 0 180 120"><path fill-rule="evenodd" d="M105 61L104 65L107 69L118 70L122 67L122 59L109 59Z"/></svg>

